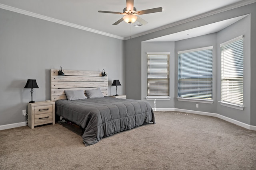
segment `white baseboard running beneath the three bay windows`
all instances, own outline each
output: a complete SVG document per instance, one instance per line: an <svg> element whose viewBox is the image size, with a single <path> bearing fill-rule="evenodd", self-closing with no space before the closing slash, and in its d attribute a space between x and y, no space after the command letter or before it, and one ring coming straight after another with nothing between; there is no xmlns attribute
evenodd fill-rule
<svg viewBox="0 0 256 170"><path fill-rule="evenodd" d="M248 125L246 123L237 121L235 119L231 119L229 117L220 115L218 113L210 113L210 112L204 112L204 111L195 111L195 110L186 110L186 109L177 109L177 108L154 108L154 111L180 111L180 112L186 112L186 113L192 113L192 114L198 114L198 115L206 115L206 116L212 116L212 117L218 117L219 119L228 121L230 123L234 123L235 125L244 127L249 130L256 131L256 126Z"/></svg>

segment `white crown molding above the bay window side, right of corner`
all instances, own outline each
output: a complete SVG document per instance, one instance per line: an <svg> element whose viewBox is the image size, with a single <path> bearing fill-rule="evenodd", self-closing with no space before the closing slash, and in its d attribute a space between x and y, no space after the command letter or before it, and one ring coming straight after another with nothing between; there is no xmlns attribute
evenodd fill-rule
<svg viewBox="0 0 256 170"><path fill-rule="evenodd" d="M150 31L146 31L146 32L143 32L143 33L139 33L139 34L133 35L132 38L140 37L142 35L153 33L153 32L156 32L156 31L160 31L162 29L174 27L176 25L181 25L181 24L184 24L184 23L187 23L187 22L190 22L190 21L194 21L194 20L198 20L198 19L205 18L205 17L208 17L208 16L212 16L214 14L218 14L218 13L221 13L221 12L232 10L232 9L235 9L235 8L238 8L238 7L241 7L241 6L245 6L245 5L249 5L249 4L252 4L252 3L255 3L255 2L256 2L256 0L244 0L242 2L237 2L235 4L232 4L232 5L229 5L229 6L225 6L225 7L222 7L222 8L218 8L216 10L212 10L212 11L206 12L204 14L199 14L199 15L193 16L191 18L187 18L187 19L184 19L184 20L176 21L174 23L170 23L168 25L164 25L164 26L158 27L156 29L151 29ZM124 40L128 40L128 39L130 39L130 37L125 37L124 38Z"/></svg>

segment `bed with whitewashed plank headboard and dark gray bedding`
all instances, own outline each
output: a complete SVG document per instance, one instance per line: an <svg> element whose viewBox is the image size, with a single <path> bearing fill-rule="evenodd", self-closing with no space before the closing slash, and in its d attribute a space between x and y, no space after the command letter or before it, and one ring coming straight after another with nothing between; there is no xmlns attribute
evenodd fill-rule
<svg viewBox="0 0 256 170"><path fill-rule="evenodd" d="M85 146L120 131L155 123L148 102L109 97L108 76L101 76L101 72L65 70L64 76L58 76L58 70L52 69L51 100L55 101L56 115L84 129Z"/></svg>

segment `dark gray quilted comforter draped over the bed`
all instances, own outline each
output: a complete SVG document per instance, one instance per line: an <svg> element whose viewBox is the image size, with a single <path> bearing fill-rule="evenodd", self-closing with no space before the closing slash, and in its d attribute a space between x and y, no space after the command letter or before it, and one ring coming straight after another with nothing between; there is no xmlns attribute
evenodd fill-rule
<svg viewBox="0 0 256 170"><path fill-rule="evenodd" d="M57 100L55 106L57 115L85 129L82 138L86 146L114 133L145 123L155 123L152 107L141 100L112 97Z"/></svg>

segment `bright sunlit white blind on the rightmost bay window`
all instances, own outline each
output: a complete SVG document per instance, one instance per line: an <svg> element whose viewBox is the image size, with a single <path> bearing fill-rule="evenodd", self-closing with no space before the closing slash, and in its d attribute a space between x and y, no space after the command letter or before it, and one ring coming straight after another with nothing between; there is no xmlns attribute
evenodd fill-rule
<svg viewBox="0 0 256 170"><path fill-rule="evenodd" d="M243 36L222 43L221 101L243 105L244 101L244 40Z"/></svg>

